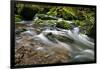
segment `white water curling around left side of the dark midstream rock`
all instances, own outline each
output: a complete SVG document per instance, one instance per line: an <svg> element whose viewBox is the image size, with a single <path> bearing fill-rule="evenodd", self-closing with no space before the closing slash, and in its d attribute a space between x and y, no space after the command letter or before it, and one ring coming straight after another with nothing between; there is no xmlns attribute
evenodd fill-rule
<svg viewBox="0 0 100 69"><path fill-rule="evenodd" d="M33 39L38 40L39 42L47 46L60 47L60 48L63 47L66 48L68 51L72 52L70 45L57 40L55 37L52 38L52 40L48 38L47 36L50 36L48 35L49 33L52 33L51 35L60 35L61 31L46 29L42 31L39 35L34 36Z"/></svg>

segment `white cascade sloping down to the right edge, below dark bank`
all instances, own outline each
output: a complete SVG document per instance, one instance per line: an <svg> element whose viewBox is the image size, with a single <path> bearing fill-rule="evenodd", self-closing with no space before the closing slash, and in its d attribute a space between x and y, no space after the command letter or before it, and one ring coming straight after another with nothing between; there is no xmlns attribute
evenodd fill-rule
<svg viewBox="0 0 100 69"><path fill-rule="evenodd" d="M73 39L77 44L84 45L86 48L94 49L94 43L91 42L91 38L87 37L84 34L79 33L79 27L75 27L72 30L61 30L63 32L63 36L67 38Z"/></svg>

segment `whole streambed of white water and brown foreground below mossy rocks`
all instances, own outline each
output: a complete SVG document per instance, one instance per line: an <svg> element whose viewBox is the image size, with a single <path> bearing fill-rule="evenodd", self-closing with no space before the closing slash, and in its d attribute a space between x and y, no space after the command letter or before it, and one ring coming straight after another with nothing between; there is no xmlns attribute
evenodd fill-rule
<svg viewBox="0 0 100 69"><path fill-rule="evenodd" d="M94 42L72 30L16 23L15 64L55 64L94 61Z"/></svg>

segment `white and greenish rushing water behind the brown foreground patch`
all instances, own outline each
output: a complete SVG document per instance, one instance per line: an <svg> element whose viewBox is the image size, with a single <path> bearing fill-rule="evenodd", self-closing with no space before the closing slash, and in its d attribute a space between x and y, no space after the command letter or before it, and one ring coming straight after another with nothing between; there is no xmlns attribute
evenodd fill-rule
<svg viewBox="0 0 100 69"><path fill-rule="evenodd" d="M94 42L87 35L79 32L79 27L73 27L71 30L57 27L44 27L37 34L33 28L27 29L21 35L28 34L33 40L39 41L46 46L65 48L71 54L71 61L93 61L94 60ZM58 38L64 37L71 41L61 41Z"/></svg>

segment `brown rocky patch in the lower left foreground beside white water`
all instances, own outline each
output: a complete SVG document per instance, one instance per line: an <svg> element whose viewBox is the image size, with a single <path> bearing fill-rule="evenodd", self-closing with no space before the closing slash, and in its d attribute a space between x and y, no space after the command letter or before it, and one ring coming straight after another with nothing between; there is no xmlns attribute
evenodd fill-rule
<svg viewBox="0 0 100 69"><path fill-rule="evenodd" d="M32 26L31 26L32 27ZM19 27L16 27L18 29ZM27 26L24 26L27 28ZM20 30L23 28L20 28ZM20 34L16 34L20 35ZM19 38L16 36L16 38ZM32 36L23 35L16 39L15 65L53 64L69 61L69 52L64 48L46 46Z"/></svg>

